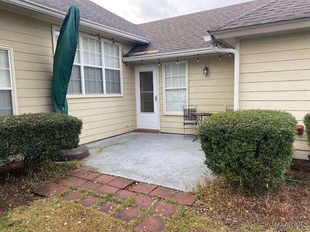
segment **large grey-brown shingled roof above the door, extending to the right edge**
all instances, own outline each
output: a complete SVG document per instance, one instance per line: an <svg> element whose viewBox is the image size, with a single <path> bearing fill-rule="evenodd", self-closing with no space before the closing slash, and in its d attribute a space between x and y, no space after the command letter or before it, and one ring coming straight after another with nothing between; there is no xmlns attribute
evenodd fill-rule
<svg viewBox="0 0 310 232"><path fill-rule="evenodd" d="M151 43L135 46L126 56L140 52L172 53L208 48L202 37L209 31L233 29L310 17L310 0L253 0L193 14L138 25ZM143 54L141 54L143 55Z"/></svg>

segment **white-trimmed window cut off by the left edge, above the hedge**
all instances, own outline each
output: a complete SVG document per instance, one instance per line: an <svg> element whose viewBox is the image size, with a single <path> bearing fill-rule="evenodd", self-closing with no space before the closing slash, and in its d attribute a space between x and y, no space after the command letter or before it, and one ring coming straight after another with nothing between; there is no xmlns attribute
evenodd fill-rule
<svg viewBox="0 0 310 232"><path fill-rule="evenodd" d="M13 83L10 50L0 47L0 116L13 115Z"/></svg>

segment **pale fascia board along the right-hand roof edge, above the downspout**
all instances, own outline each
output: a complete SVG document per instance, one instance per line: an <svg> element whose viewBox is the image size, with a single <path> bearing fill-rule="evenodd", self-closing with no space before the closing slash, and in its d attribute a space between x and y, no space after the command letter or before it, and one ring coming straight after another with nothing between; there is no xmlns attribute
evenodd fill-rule
<svg viewBox="0 0 310 232"><path fill-rule="evenodd" d="M247 27L224 29L224 30L210 30L209 33L216 36L217 39L225 39L231 37L244 37L244 36L254 36L257 34L264 33L280 33L289 30L307 29L310 28L310 19L301 18L280 21L275 23L259 24Z"/></svg>

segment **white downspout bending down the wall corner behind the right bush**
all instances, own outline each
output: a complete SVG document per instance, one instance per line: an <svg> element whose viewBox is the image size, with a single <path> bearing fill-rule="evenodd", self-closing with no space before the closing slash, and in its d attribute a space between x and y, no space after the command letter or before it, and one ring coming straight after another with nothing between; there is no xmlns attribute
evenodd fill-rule
<svg viewBox="0 0 310 232"><path fill-rule="evenodd" d="M215 38L213 35L203 37L204 41L210 43L211 49L215 52L233 53L234 54L234 97L233 97L233 110L239 110L239 69L240 69L240 56L239 52L232 48L217 48L215 47Z"/></svg>

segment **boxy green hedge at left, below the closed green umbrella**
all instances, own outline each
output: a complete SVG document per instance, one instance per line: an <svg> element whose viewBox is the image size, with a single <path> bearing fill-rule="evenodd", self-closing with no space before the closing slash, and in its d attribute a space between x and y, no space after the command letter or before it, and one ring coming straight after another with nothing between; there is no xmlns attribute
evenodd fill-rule
<svg viewBox="0 0 310 232"><path fill-rule="evenodd" d="M0 117L0 162L22 160L30 170L37 162L59 158L78 147L82 121L76 117L37 113Z"/></svg>

